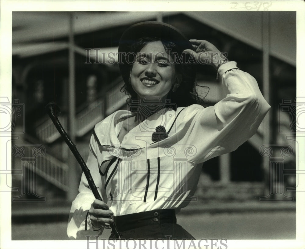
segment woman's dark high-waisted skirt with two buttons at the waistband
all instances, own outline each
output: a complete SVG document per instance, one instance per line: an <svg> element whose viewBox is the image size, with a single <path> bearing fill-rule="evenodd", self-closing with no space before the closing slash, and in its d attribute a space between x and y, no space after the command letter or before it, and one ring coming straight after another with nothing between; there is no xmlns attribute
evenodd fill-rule
<svg viewBox="0 0 305 249"><path fill-rule="evenodd" d="M114 217L122 239L134 240L191 240L195 239L177 224L174 209L146 211ZM109 239L116 239L111 233Z"/></svg>

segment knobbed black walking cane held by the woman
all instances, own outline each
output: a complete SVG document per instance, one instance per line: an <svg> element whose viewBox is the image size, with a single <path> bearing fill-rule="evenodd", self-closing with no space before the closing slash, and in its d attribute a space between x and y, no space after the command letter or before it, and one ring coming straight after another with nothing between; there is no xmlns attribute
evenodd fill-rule
<svg viewBox="0 0 305 249"><path fill-rule="evenodd" d="M77 151L76 146L74 145L74 143L71 141L70 137L67 135L66 131L63 129L63 126L61 125L61 123L59 122L57 116L59 116L60 114L60 109L59 107L56 105L55 102L50 102L46 105L45 110L47 111L48 115L50 116L50 118L52 119L56 129L58 130L59 134L63 137L63 139L65 140L66 144L69 146L70 150L72 151L73 155L75 156L77 162L79 163L79 165L81 166L81 169L84 172L84 175L87 178L88 184L92 190L92 193L95 197L95 199L98 200L102 200L102 197L100 196L97 187L95 186L95 183L93 181L93 178L90 174L90 170L88 169L86 163L84 162L84 159L81 157L81 155L79 154L79 152ZM111 217L109 217L111 218ZM114 223L110 223L110 227L112 229L112 232L114 233L115 237L117 239L121 239L120 233L117 229L116 224Z"/></svg>

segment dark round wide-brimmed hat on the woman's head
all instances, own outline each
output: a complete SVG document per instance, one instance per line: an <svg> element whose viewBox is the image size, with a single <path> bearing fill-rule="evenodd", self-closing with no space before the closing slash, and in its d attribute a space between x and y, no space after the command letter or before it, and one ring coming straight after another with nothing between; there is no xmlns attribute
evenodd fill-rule
<svg viewBox="0 0 305 249"><path fill-rule="evenodd" d="M130 52L131 45L143 37L156 37L174 42L181 48L193 49L191 42L177 28L162 22L148 21L132 25L123 33L119 43L119 67L124 82L127 84L131 64L126 60L126 54Z"/></svg>

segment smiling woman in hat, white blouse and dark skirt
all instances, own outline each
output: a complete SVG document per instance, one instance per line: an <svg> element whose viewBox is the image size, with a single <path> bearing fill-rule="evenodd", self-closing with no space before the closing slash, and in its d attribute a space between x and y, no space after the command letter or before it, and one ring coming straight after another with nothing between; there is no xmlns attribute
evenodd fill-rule
<svg viewBox="0 0 305 249"><path fill-rule="evenodd" d="M95 200L83 175L68 236L101 234L115 222L123 239L194 239L175 213L196 200L203 162L248 140L270 106L256 80L213 44L188 40L168 24L131 26L119 53L130 111L94 128L87 165L103 201ZM196 64L203 61L229 91L207 108L195 90Z"/></svg>

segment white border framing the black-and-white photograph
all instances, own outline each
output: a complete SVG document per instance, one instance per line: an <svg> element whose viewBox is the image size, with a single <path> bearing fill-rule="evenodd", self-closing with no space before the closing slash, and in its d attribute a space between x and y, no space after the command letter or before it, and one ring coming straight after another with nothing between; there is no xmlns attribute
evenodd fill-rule
<svg viewBox="0 0 305 249"><path fill-rule="evenodd" d="M1 0L1 22L0 22L0 96L12 96L11 83L12 82L12 12L13 11L160 11L166 9L167 11L234 11L231 9L234 1L9 1ZM236 1L235 1L236 2ZM254 2L254 1L238 1L238 3ZM305 76L303 73L303 61L305 58L304 44L305 44L305 2L304 1L267 1L272 2L272 6L268 11L296 11L297 23L297 97L305 96ZM245 11L245 10L243 10ZM11 101L11 99L10 99ZM5 121L0 121L5 122ZM305 120L300 120L305 127ZM0 137L1 138L1 137ZM300 145L304 145L304 136L298 137L297 141ZM3 170L6 165L10 164L9 153L3 148L1 139L1 156L0 167ZM9 145L10 146L10 145ZM305 170L305 148L299 148L299 169ZM5 182L1 182L5 184ZM304 189L305 182L300 182L298 188ZM296 192L297 206L296 206L296 240L228 240L228 248L304 248L304 224L305 216L302 214L305 207L305 192ZM21 241L11 240L11 193L1 192L1 248L87 248L87 241ZM174 248L174 242L170 241L169 248ZM115 243L119 246L118 242ZM155 244L153 244L155 245ZM102 245L101 245L102 246ZM90 248L95 248L95 245L90 245ZM101 248L101 247L100 247ZM111 247L109 247L111 248ZM122 244L124 247L124 243ZM139 247L137 247L139 248ZM162 247L161 247L162 248ZM167 248L167 247L164 247Z"/></svg>

